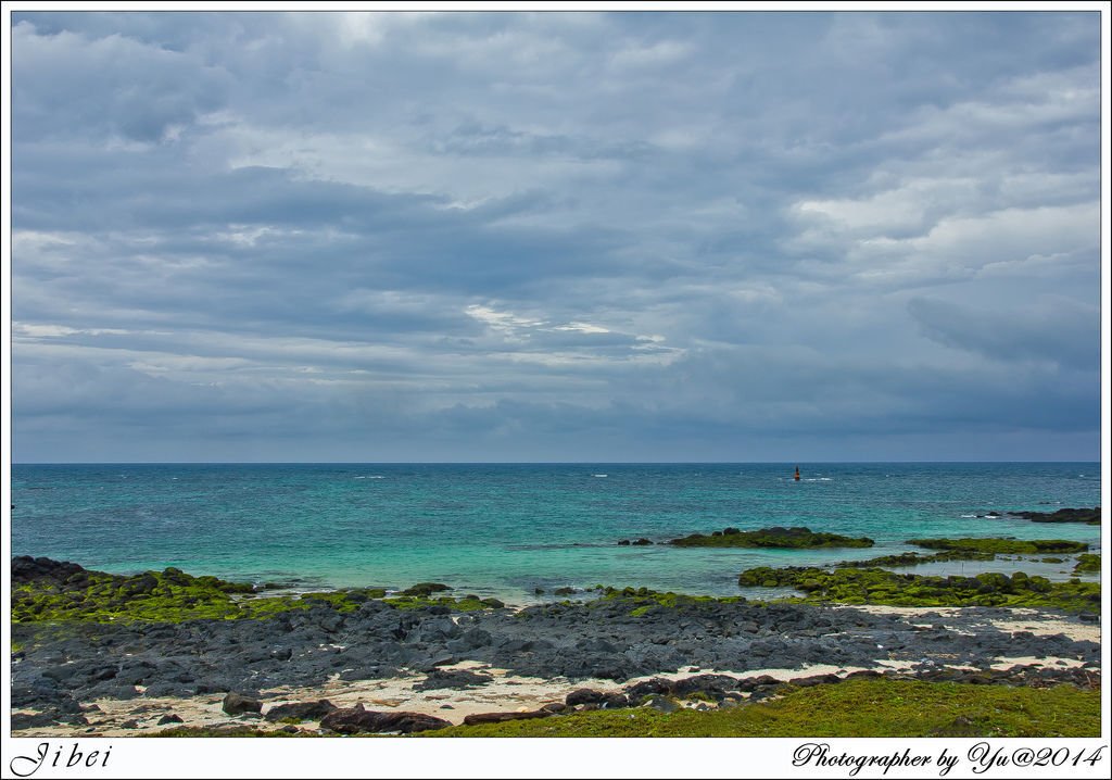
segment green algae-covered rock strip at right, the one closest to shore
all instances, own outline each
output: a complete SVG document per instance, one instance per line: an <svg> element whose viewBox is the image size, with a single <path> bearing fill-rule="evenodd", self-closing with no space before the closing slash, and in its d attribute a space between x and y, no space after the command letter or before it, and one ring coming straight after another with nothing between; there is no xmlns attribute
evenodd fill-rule
<svg viewBox="0 0 1112 780"><path fill-rule="evenodd" d="M1051 582L1016 572L1012 576L986 572L976 576L923 576L883 569L823 569L758 566L738 576L742 588L794 588L800 601L893 606L1027 606L1072 612L1101 609L1095 582Z"/></svg>

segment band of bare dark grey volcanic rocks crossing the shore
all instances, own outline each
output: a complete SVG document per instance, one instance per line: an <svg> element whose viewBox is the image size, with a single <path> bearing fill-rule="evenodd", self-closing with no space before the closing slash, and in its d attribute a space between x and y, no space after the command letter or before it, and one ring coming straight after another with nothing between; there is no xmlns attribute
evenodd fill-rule
<svg viewBox="0 0 1112 780"><path fill-rule="evenodd" d="M31 565L39 564L32 560ZM79 572L66 576L73 574ZM1089 614L1053 616L1084 626L1092 620ZM490 664L526 677L616 682L693 665L743 673L910 661L985 670L1002 656L1059 656L1099 664L1095 642L1002 631L989 622L1012 618L1009 610L996 608L906 619L810 604L681 601L665 605L618 592L615 598L517 612L449 613L435 605L397 609L371 599L350 611L320 603L260 620L72 622L64 630L14 623L12 639L21 651L11 664L11 707L41 715L21 715L19 728L42 719L80 723L80 704L101 698L228 694L226 711L258 715L266 700L262 691L317 687L337 677L375 680L421 671L428 675L426 689L480 685L489 679L473 671L440 669L455 661ZM1024 620L1034 623L1039 619L1025 615ZM749 680L731 688L728 680L701 675L684 684L702 687L692 690L717 700L724 693L746 692L745 685L774 683ZM667 682L638 684L639 698L685 694ZM616 703L614 699L608 705ZM334 714L324 710L322 705L311 713L289 710L276 719ZM266 715L278 712L282 712L279 705L272 705Z"/></svg>

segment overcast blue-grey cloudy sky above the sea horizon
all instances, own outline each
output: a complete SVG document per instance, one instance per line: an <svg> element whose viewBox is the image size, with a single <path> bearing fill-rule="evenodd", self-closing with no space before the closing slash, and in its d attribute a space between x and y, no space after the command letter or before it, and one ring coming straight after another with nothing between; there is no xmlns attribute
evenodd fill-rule
<svg viewBox="0 0 1112 780"><path fill-rule="evenodd" d="M1098 460L1099 32L14 13L13 460Z"/></svg>

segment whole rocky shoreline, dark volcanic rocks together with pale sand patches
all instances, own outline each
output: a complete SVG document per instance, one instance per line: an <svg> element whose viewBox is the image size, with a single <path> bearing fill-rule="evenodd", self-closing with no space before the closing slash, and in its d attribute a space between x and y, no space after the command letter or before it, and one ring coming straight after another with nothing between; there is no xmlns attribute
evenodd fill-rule
<svg viewBox="0 0 1112 780"><path fill-rule="evenodd" d="M69 570L67 576L72 573ZM320 602L259 619L17 622L12 729L19 735L59 733L59 729L75 735L112 729L139 733L189 724L169 711L172 702L188 709L187 702L203 700L211 713L214 703L226 703L228 694L257 702L258 708L252 704L235 713L224 709L224 719L217 721L297 729L304 727L294 724L296 712L266 718L278 704L297 703L291 691L311 697L327 690L335 698L399 680L407 682L403 698L388 708L395 715L415 714L405 697L418 693L428 707L440 708L444 704L428 697L441 690L480 692L514 680L547 683L527 701L507 695L499 704L498 697L487 697L486 713L470 708L469 714L490 719L498 712L525 717L506 714L520 710L523 701L536 704L525 708L534 713L553 705L543 715L529 717L653 702L661 708L729 705L771 695L781 680L791 677L797 678L796 684L798 678L805 680L802 684L825 684L856 673L1093 685L1100 680L1095 620L1095 615L980 606L901 611L744 600L646 604L618 592L614 598L520 610L485 605L459 612L437 603L400 609L367 599L346 611ZM1044 625L1052 632L1040 629ZM1029 661L1009 661L1020 658ZM771 669L790 673L778 679L765 674L768 679L761 680ZM816 675L815 669L825 671ZM714 673L707 677L706 670ZM678 675L677 680L686 675L693 682L648 684L661 675ZM570 697L579 688L597 695ZM347 699L349 705L337 711L350 712L341 717L315 710L318 720L311 728L350 733L440 725L420 718L363 715L356 707L361 701ZM120 702L127 702L128 712L159 702L161 709L155 710L161 713L159 721L169 715L177 720L108 717L106 712ZM459 718L439 720L448 724ZM332 728L341 721L346 724ZM211 724L211 719L205 722Z"/></svg>

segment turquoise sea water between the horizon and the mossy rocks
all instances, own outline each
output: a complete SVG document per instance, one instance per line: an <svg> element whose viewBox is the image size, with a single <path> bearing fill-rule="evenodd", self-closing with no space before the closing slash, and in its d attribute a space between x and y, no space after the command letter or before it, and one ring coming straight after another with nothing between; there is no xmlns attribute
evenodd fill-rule
<svg viewBox="0 0 1112 780"><path fill-rule="evenodd" d="M736 594L751 566L871 557L920 536L1100 543L1096 526L971 516L1099 505L1098 463L800 465L801 482L794 464L16 465L12 554L312 588L431 580L522 602L535 588L595 583ZM616 545L728 525L806 525L877 544Z"/></svg>

